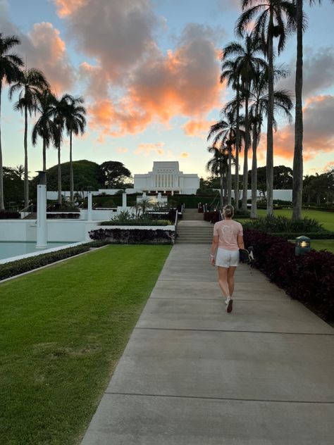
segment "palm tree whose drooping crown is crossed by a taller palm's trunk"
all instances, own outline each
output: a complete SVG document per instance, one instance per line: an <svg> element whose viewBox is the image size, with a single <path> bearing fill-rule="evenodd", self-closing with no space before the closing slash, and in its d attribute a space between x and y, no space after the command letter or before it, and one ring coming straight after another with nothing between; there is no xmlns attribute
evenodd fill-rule
<svg viewBox="0 0 334 445"><path fill-rule="evenodd" d="M285 77L287 75L286 70L278 69L274 70L276 78ZM252 209L251 218L257 218L256 208L256 190L257 190L257 156L256 150L259 145L261 137L261 127L263 123L263 116L268 114L268 70L259 71L258 75L252 85L252 91L250 92L250 99L252 105L249 109L250 120L252 123ZM277 129L277 122L275 119L275 113L285 115L285 117L291 122L293 103L289 92L285 90L274 90L273 92L273 128Z"/></svg>

